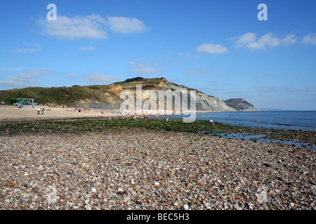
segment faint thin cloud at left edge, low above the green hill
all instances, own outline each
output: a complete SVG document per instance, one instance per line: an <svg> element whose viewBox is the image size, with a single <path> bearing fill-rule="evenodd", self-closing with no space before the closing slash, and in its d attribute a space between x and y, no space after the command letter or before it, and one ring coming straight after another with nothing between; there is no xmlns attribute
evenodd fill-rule
<svg viewBox="0 0 316 224"><path fill-rule="evenodd" d="M44 73L47 73L46 69L36 69L27 73L18 73L16 76L8 78L7 80L0 80L0 85L13 88L29 87L35 83L35 78Z"/></svg>

